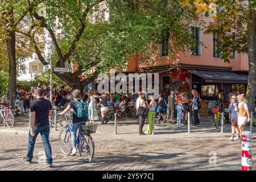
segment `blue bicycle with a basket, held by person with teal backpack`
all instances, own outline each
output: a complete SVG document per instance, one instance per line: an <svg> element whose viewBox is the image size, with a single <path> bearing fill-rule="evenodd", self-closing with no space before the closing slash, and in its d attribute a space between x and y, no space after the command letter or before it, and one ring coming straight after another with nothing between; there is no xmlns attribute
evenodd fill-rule
<svg viewBox="0 0 256 182"><path fill-rule="evenodd" d="M79 126L79 134L76 135L76 146L84 162L91 162L94 156L94 140L90 134L96 133L98 124L89 123ZM72 125L68 122L66 129L61 130L59 134L59 146L64 155L69 155L72 151L71 143Z"/></svg>

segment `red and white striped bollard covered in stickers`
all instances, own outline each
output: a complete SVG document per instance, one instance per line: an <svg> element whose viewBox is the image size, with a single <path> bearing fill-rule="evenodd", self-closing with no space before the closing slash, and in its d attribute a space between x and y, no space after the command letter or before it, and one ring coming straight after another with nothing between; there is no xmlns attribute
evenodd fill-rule
<svg viewBox="0 0 256 182"><path fill-rule="evenodd" d="M251 160L251 132L243 131L242 133L242 171L252 170Z"/></svg>

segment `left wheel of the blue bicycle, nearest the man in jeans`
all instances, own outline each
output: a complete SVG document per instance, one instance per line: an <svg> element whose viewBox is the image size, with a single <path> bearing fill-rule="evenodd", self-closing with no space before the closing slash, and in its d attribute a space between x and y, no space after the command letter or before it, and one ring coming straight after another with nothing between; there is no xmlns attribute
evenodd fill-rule
<svg viewBox="0 0 256 182"><path fill-rule="evenodd" d="M61 130L59 134L59 146L64 155L69 155L72 151L71 132Z"/></svg>

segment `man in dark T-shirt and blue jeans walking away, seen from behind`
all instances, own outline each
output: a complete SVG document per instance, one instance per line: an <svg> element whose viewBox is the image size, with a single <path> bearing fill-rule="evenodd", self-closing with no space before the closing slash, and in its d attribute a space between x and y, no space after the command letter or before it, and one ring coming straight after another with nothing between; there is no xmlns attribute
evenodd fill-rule
<svg viewBox="0 0 256 182"><path fill-rule="evenodd" d="M44 150L47 157L47 166L52 167L52 149L49 143L49 118L52 114L51 102L44 99L44 90L36 89L36 100L30 107L30 133L28 134L27 156L23 158L24 162L30 164L33 158L36 137L40 133L44 144Z"/></svg>

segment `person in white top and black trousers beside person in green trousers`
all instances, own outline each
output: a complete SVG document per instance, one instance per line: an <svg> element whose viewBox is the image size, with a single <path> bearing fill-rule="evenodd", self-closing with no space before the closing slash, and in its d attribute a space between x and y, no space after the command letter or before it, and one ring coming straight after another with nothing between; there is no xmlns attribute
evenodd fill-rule
<svg viewBox="0 0 256 182"><path fill-rule="evenodd" d="M139 98L136 101L137 115L139 115L139 135L144 135L142 129L146 118L146 104L143 100L144 94L139 92Z"/></svg>

